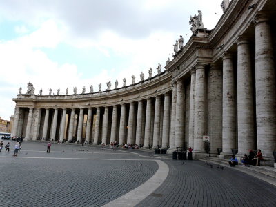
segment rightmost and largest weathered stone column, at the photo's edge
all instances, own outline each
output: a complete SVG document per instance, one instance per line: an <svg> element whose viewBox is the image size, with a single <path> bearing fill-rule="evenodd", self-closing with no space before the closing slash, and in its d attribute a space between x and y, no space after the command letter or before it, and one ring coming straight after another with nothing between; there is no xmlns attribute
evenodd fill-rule
<svg viewBox="0 0 276 207"><path fill-rule="evenodd" d="M265 15L255 18L255 39L257 148L265 157L272 157L276 150L275 57L269 19Z"/></svg>

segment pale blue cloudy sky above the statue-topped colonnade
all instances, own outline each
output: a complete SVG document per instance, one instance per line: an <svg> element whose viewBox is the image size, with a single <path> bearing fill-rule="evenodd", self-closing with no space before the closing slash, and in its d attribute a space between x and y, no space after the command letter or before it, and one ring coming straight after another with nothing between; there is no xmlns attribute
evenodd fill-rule
<svg viewBox="0 0 276 207"><path fill-rule="evenodd" d="M201 10L204 27L222 15L221 0L0 0L0 117L14 114L12 101L33 83L57 94L89 92L111 81L136 82L172 60L173 44L190 39L190 15Z"/></svg>

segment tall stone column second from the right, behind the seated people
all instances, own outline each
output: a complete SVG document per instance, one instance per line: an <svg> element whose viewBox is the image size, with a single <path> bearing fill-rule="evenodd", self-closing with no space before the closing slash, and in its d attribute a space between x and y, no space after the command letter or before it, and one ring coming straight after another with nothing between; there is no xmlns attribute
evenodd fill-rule
<svg viewBox="0 0 276 207"><path fill-rule="evenodd" d="M253 79L250 58L250 42L237 40L237 141L239 157L255 149Z"/></svg>

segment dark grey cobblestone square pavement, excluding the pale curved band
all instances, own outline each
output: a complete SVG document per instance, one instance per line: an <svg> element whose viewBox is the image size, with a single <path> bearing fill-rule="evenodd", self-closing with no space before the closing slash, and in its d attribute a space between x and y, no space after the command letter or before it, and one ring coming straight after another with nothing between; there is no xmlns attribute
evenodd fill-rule
<svg viewBox="0 0 276 207"><path fill-rule="evenodd" d="M10 155L0 153L0 206L102 206L150 179L159 157L169 166L168 177L137 206L276 204L275 186L202 161L67 144L53 144L46 154L46 143L39 142L23 142L19 157L11 157L14 144Z"/></svg>

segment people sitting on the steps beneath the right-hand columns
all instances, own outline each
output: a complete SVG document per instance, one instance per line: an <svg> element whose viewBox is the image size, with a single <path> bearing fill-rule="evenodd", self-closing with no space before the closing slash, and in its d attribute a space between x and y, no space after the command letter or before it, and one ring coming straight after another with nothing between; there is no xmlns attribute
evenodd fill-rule
<svg viewBox="0 0 276 207"><path fill-rule="evenodd" d="M257 154L255 154L253 152L253 150L248 150L249 155L244 154L242 161L242 164L244 166L259 166L260 165L260 161L264 160L263 155L262 155L262 151L261 150L257 150ZM229 161L229 165L231 167L235 166L238 164L237 158L235 157L235 155L232 155L232 157L230 158Z"/></svg>

